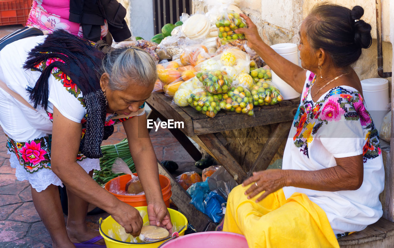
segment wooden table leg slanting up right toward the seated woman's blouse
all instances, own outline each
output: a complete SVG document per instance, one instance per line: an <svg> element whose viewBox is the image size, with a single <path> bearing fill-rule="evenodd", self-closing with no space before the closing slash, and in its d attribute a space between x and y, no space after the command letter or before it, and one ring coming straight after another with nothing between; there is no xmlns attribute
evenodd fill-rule
<svg viewBox="0 0 394 248"><path fill-rule="evenodd" d="M275 153L281 146L282 141L287 138L292 123L292 121L287 121L278 124L267 142L264 144L264 147L260 151L260 154L258 154L255 163L253 163L251 169L247 173L247 177L251 176L253 171L263 171L267 169L269 163L271 163L273 156L275 156Z"/></svg>

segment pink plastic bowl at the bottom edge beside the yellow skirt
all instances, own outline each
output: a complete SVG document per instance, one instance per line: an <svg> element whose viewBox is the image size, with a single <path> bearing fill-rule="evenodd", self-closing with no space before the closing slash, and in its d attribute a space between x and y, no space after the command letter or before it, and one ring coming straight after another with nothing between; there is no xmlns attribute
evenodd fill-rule
<svg viewBox="0 0 394 248"><path fill-rule="evenodd" d="M249 248L245 236L225 231L206 231L179 236L160 248Z"/></svg>

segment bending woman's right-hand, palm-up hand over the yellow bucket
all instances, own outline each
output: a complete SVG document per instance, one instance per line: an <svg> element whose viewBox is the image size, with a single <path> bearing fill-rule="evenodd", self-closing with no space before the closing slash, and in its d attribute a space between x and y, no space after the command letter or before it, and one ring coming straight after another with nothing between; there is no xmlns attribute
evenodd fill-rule
<svg viewBox="0 0 394 248"><path fill-rule="evenodd" d="M172 234L170 213L164 201L148 203L148 217L150 225L164 227Z"/></svg>

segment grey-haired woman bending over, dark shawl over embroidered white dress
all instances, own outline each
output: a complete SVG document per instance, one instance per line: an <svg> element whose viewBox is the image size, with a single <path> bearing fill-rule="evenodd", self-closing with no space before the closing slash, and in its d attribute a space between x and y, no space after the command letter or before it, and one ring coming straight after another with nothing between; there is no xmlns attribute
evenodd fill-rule
<svg viewBox="0 0 394 248"><path fill-rule="evenodd" d="M171 230L143 110L156 78L149 53L112 49L64 30L20 39L0 51L0 80L11 89L10 94L0 89L0 125L8 138L10 163L18 180L30 182L34 206L54 248L105 247L99 232L86 226L87 202L110 213L126 232L139 235L139 211L91 178L92 170L100 169L101 141L120 122L145 191L150 224ZM35 109L17 101L15 93ZM63 184L69 198L67 227L58 191Z"/></svg>

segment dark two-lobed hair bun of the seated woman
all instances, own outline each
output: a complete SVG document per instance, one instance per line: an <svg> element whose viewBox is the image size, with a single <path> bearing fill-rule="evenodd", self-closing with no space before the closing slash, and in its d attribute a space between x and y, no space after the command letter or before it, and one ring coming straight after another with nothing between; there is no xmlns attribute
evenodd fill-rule
<svg viewBox="0 0 394 248"><path fill-rule="evenodd" d="M372 44L371 25L359 20L364 15L364 9L361 6L354 6L350 11L350 17L355 21L354 42L361 48L369 48Z"/></svg>

